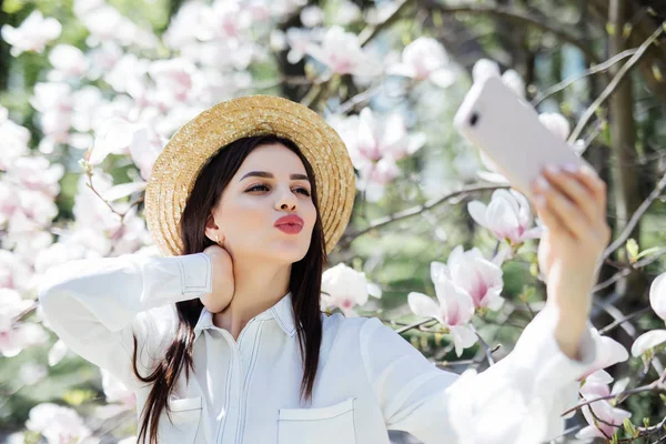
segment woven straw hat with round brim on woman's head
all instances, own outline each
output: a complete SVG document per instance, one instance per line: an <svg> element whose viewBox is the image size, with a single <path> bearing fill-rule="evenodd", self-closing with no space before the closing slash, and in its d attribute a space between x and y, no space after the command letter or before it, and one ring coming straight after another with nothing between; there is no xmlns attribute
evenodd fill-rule
<svg viewBox="0 0 666 444"><path fill-rule="evenodd" d="M219 103L185 123L158 157L145 189L145 215L164 255L182 254L179 222L206 160L234 140L276 134L312 164L326 251L346 228L354 203L354 168L340 135L311 109L273 95Z"/></svg>

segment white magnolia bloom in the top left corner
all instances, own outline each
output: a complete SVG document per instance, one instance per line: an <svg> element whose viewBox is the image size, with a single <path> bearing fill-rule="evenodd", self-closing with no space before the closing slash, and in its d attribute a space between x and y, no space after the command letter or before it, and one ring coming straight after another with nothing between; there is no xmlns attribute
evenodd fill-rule
<svg viewBox="0 0 666 444"><path fill-rule="evenodd" d="M32 11L30 16L19 26L13 28L9 24L2 27L0 33L2 39L11 46L11 54L19 57L22 52L42 52L52 40L60 37L62 26L52 17L44 19L39 10Z"/></svg>

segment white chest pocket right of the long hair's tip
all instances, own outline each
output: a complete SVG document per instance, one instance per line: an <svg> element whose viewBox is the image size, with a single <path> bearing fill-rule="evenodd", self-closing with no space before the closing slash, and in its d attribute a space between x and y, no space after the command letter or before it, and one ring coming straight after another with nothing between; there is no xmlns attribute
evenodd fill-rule
<svg viewBox="0 0 666 444"><path fill-rule="evenodd" d="M354 400L326 407L280 408L279 444L356 444Z"/></svg>

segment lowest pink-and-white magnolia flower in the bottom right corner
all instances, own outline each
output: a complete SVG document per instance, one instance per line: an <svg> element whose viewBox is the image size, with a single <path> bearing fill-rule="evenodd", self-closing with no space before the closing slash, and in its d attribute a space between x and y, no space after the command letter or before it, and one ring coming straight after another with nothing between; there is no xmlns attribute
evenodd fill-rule
<svg viewBox="0 0 666 444"><path fill-rule="evenodd" d="M612 381L613 377L608 373L599 370L587 377L585 384L581 387L581 395L585 401L609 396L610 389L608 387L608 383ZM632 416L629 412L614 407L609 400L596 401L584 406L582 410L589 425L576 434L576 438L578 440L610 437L622 426L624 420ZM602 421L596 421L595 416Z"/></svg>

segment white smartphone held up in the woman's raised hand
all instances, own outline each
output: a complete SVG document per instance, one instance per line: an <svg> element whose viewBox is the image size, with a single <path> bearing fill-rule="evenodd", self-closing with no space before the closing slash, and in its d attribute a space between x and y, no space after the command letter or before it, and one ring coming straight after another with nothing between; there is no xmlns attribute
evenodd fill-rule
<svg viewBox="0 0 666 444"><path fill-rule="evenodd" d="M536 110L501 78L475 82L454 117L457 131L497 165L511 185L534 202L532 183L547 164L587 164L548 130Z"/></svg>

